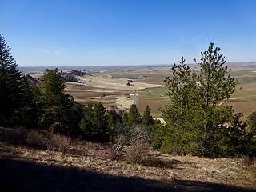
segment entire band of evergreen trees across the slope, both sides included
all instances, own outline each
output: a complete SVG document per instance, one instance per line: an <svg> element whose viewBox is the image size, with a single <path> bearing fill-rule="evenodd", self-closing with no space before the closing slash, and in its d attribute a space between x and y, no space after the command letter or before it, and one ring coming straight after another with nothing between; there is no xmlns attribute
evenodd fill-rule
<svg viewBox="0 0 256 192"><path fill-rule="evenodd" d="M134 137L146 135L143 137L155 150L166 153L210 158L255 156L256 112L250 114L247 123L242 122L242 114L234 114L232 106L225 103L238 79L230 77L219 52L211 44L202 53L199 73L191 70L184 58L172 67L173 76L165 79L170 105L162 109L166 124L161 124L152 118L149 106L141 116L134 104L128 113L106 110L100 102L94 106L78 104L65 93L57 69L46 70L38 86L29 84L0 36L0 126L44 129L92 142L116 143L117 154Z"/></svg>

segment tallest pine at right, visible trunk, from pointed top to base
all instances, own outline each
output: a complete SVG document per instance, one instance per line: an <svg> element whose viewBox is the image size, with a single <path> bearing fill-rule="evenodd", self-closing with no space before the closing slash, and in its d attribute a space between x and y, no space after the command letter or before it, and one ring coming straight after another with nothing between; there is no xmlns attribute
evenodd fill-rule
<svg viewBox="0 0 256 192"><path fill-rule="evenodd" d="M205 137L204 153L207 156L216 156L221 152L220 142L222 125L229 124L233 118L232 106L222 106L234 93L238 79L230 77L230 69L224 66L226 63L220 48L214 48L210 43L208 50L202 54L201 74L198 76L200 82L200 95L202 95L203 129Z"/></svg>

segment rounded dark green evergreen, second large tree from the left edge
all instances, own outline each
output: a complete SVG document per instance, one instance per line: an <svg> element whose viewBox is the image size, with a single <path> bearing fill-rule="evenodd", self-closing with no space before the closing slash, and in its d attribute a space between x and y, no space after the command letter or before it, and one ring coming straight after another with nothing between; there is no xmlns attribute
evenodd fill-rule
<svg viewBox="0 0 256 192"><path fill-rule="evenodd" d="M78 106L74 99L65 94L65 84L57 69L46 70L39 82L40 126L64 133L78 131ZM80 120L80 119L79 119Z"/></svg>

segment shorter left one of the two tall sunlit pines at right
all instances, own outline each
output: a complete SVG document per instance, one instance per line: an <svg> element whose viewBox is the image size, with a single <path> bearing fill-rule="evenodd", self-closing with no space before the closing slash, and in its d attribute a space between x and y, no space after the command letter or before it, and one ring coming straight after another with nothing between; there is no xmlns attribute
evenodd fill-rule
<svg viewBox="0 0 256 192"><path fill-rule="evenodd" d="M182 58L172 67L172 78L165 79L170 105L162 110L166 126L159 126L154 134L154 146L162 143L160 150L178 154L197 154L202 146L202 109L198 94L197 75L186 66ZM161 129L161 130L160 130ZM163 138L160 138L162 135ZM162 140L162 141L161 141Z"/></svg>

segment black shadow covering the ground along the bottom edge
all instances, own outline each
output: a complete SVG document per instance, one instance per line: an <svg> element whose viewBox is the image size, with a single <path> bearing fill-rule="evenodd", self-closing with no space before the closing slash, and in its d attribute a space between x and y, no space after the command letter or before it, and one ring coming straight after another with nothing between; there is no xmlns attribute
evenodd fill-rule
<svg viewBox="0 0 256 192"><path fill-rule="evenodd" d="M1 191L254 191L210 182L118 177L74 167L0 159Z"/></svg>

